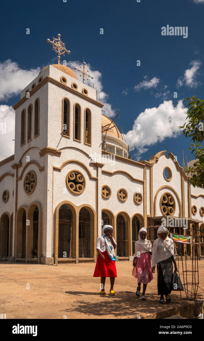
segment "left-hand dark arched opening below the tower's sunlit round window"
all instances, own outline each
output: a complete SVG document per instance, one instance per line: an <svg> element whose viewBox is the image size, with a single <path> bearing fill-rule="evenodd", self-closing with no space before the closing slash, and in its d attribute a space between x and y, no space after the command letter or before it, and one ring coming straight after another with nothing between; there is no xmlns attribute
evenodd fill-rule
<svg viewBox="0 0 204 341"><path fill-rule="evenodd" d="M72 212L68 205L59 208L58 257L72 258L73 224Z"/></svg>

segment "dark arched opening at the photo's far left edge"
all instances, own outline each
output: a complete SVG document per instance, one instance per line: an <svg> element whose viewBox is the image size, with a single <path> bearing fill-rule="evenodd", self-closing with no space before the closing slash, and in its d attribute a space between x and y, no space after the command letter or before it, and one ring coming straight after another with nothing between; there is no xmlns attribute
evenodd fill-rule
<svg viewBox="0 0 204 341"><path fill-rule="evenodd" d="M4 214L1 219L1 231L0 231L0 246L1 257L9 256L9 216Z"/></svg>

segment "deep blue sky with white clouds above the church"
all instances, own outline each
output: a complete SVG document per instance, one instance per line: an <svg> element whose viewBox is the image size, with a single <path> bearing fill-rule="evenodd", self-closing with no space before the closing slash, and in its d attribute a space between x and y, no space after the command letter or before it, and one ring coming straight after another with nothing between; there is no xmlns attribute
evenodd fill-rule
<svg viewBox="0 0 204 341"><path fill-rule="evenodd" d="M184 122L184 100L191 95L203 99L203 16L204 0L3 2L0 120L12 117L10 106L19 100L25 82L43 66L57 63L46 39L60 33L71 51L65 57L69 66L80 64L83 56L90 64L92 83L106 94L104 114L114 117L120 112L115 124L123 128L133 159L149 160L167 150L182 165L184 149L192 160L191 139L177 127ZM167 25L188 27L188 38L161 35ZM135 130L138 123L140 130ZM14 153L10 129L9 148L2 149L0 160ZM2 136L0 142L3 147Z"/></svg>

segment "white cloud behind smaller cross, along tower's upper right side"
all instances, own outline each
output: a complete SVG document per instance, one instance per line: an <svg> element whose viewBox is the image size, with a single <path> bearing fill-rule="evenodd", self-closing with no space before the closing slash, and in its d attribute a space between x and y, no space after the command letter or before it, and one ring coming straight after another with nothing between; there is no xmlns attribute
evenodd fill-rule
<svg viewBox="0 0 204 341"><path fill-rule="evenodd" d="M82 77L79 76L79 72L77 70L74 70L75 67L79 69L80 66L83 66L83 62L80 63L79 60L68 61L67 66L69 66L69 68L72 69L77 74L79 80L83 81ZM94 77L94 79L90 77L89 80L85 80L85 83L89 85L90 87L93 87L93 83L94 83L94 89L96 89L98 93L98 101L104 104L104 107L103 107L103 110L105 111L104 115L108 117L113 117L115 115L115 109L113 109L111 104L107 102L108 94L103 91L101 73L97 70L93 71L89 63L87 63L85 66L87 70L89 70L90 76Z"/></svg>

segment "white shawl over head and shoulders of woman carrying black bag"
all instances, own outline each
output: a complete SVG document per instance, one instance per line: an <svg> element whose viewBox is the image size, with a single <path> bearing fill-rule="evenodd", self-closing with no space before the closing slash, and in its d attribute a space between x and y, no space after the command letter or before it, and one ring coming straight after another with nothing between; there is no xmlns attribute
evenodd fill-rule
<svg viewBox="0 0 204 341"><path fill-rule="evenodd" d="M162 232L167 233L167 236L164 240L162 240L159 236L159 234ZM174 254L174 242L168 237L168 234L168 229L160 225L157 231L158 239L156 239L153 243L152 267L171 256L174 256L174 259L176 258ZM161 246L160 250L158 250L158 245Z"/></svg>

